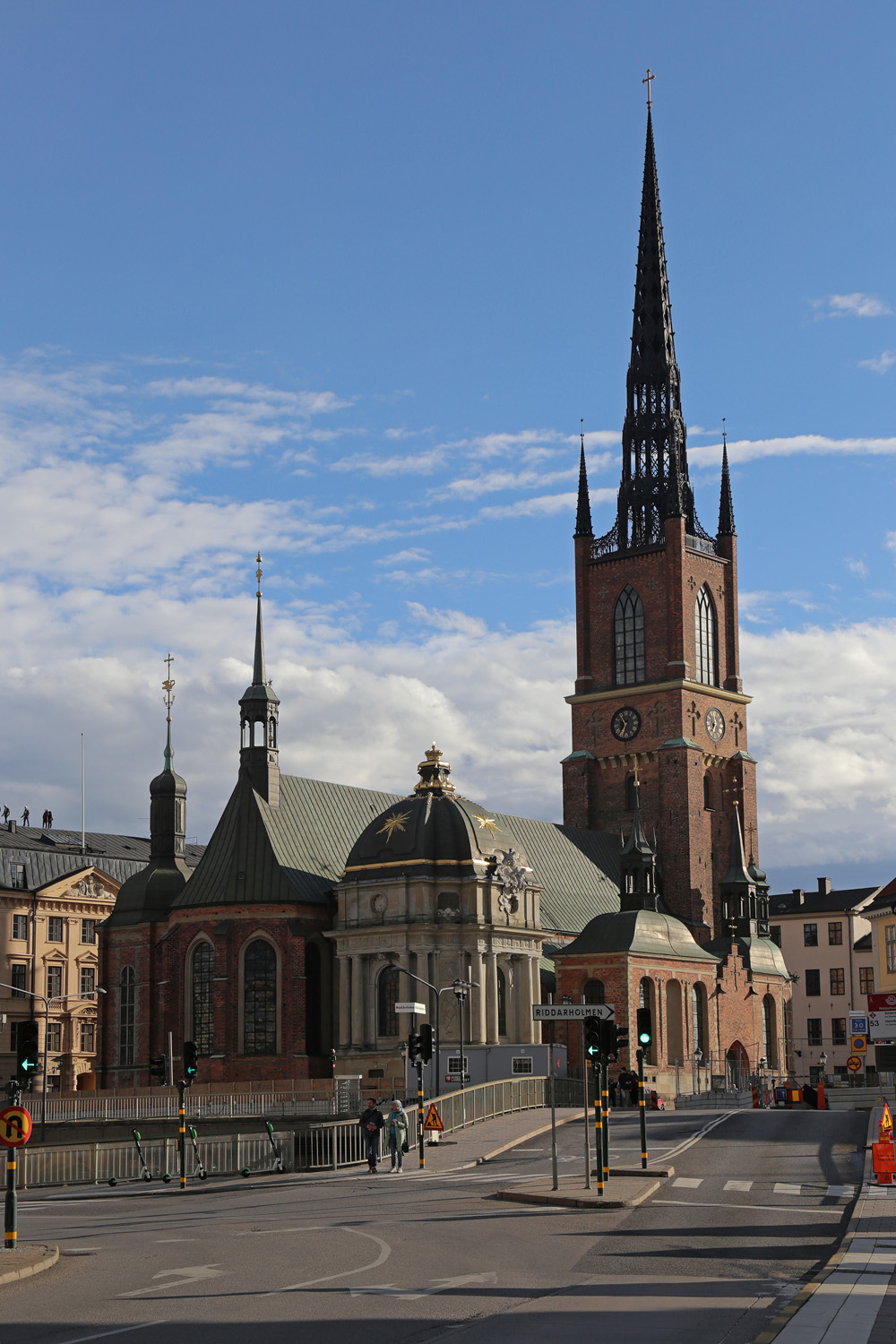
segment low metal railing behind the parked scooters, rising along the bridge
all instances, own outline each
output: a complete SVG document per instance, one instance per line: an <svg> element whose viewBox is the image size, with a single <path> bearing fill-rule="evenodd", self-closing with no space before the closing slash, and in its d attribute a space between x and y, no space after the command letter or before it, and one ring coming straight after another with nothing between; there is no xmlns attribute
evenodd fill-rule
<svg viewBox="0 0 896 1344"><path fill-rule="evenodd" d="M137 1098L142 1101L144 1098ZM261 1099L255 1094L255 1099ZM429 1102L426 1103L429 1106ZM435 1099L445 1133L494 1120L517 1110L541 1109L545 1105L545 1079L520 1078L466 1087ZM360 1110L360 1106L359 1106ZM255 1111L254 1114L258 1114ZM118 1117L121 1118L121 1117ZM408 1161L414 1161L418 1144L416 1106L407 1106ZM387 1130L380 1132L382 1156L388 1152ZM364 1161L364 1142L357 1120L337 1120L326 1125L309 1125L293 1130L275 1130L283 1168L289 1171L336 1171ZM235 1176L239 1172L261 1175L274 1168L274 1150L266 1132L197 1138L201 1164L210 1176ZM153 1179L179 1173L176 1138L144 1138L141 1148ZM141 1177L140 1156L134 1142L117 1140L94 1144L59 1144L19 1150L20 1188L36 1185L79 1185L133 1181ZM187 1142L187 1173L196 1169L192 1142Z"/></svg>

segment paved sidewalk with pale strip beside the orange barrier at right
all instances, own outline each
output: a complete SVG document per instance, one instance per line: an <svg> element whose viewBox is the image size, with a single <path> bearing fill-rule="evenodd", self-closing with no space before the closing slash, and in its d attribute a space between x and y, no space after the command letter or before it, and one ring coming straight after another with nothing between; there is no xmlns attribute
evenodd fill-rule
<svg viewBox="0 0 896 1344"><path fill-rule="evenodd" d="M877 1185L870 1113L861 1195L840 1249L756 1344L893 1344L896 1341L896 1185Z"/></svg>

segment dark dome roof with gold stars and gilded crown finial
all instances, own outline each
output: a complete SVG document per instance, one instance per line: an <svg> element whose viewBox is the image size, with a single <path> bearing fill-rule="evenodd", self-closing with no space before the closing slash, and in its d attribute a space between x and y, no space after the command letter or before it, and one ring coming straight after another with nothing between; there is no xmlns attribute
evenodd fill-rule
<svg viewBox="0 0 896 1344"><path fill-rule="evenodd" d="M490 813L461 798L449 781L450 765L435 743L418 766L414 793L382 812L352 845L347 878L472 876L476 866L514 852L520 845ZM481 868L480 868L481 871Z"/></svg>

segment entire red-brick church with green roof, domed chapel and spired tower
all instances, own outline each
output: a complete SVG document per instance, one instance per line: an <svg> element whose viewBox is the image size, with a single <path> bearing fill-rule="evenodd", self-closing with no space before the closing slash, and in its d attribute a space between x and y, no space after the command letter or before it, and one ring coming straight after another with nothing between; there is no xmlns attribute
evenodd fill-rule
<svg viewBox="0 0 896 1344"><path fill-rule="evenodd" d="M633 1040L637 1008L650 1008L660 1090L689 1091L701 1067L717 1086L787 1070L728 457L712 535L688 478L650 108L617 517L594 536L583 437L574 566L557 825L463 797L435 743L416 778L408 758L404 796L281 773L258 556L234 792L191 870L169 714L150 860L101 930L101 1087L145 1086L169 1032L196 1043L204 1082L328 1075L336 1051L339 1073L398 1087L412 1019L396 1004L423 1000L433 1020L455 978L474 988L463 1023L447 996L445 1044L461 1031L474 1046L533 1044L532 1007L555 995L613 1004Z"/></svg>

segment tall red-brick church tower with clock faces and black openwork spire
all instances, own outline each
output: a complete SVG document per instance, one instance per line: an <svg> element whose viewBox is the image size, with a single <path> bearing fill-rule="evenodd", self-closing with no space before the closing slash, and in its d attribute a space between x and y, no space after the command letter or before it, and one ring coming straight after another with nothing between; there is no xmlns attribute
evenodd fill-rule
<svg viewBox="0 0 896 1344"><path fill-rule="evenodd" d="M639 810L656 832L662 899L707 942L723 931L735 816L756 851L755 761L727 446L715 536L697 520L688 478L650 102L617 517L594 536L583 438L574 544L578 668L564 823L631 833Z"/></svg>

